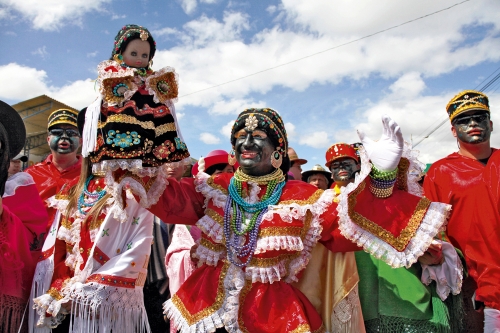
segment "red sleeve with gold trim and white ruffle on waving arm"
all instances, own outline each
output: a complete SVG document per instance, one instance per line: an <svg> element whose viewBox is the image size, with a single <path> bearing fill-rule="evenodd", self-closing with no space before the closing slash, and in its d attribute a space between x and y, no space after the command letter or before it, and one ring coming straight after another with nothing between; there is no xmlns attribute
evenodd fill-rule
<svg viewBox="0 0 500 333"><path fill-rule="evenodd" d="M406 191L394 190L391 197L378 199L371 195L366 179L371 171L364 149L360 149L361 171L339 196L340 232L366 252L392 267L410 267L429 247L434 236L446 224L451 206L430 202ZM359 202L358 205L358 201ZM389 207L387 216L375 212ZM364 214L372 215L368 218ZM384 213L385 214L385 213ZM376 219L376 222L372 220Z"/></svg>

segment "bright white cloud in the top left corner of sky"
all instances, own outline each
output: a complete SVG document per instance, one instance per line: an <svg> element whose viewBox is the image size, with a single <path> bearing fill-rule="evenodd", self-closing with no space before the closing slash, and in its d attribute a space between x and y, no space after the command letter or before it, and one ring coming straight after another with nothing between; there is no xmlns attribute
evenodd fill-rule
<svg viewBox="0 0 500 333"><path fill-rule="evenodd" d="M65 24L80 24L82 17L91 11L102 10L111 0L1 0L4 10L20 13L31 21L33 28L54 31Z"/></svg>

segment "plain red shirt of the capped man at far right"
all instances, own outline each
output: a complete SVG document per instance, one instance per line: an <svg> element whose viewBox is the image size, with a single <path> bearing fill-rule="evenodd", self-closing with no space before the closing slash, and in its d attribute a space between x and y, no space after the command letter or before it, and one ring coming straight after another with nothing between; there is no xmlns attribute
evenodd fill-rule
<svg viewBox="0 0 500 333"><path fill-rule="evenodd" d="M447 235L465 256L476 299L500 310L500 151L487 163L453 153L432 164L425 196L452 205Z"/></svg>

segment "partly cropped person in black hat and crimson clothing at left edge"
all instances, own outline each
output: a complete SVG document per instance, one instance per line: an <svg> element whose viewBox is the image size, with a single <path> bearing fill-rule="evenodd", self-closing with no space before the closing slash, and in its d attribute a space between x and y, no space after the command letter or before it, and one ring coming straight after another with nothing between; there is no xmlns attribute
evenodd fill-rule
<svg viewBox="0 0 500 333"><path fill-rule="evenodd" d="M27 332L23 315L47 226L47 211L33 178L18 172L7 180L9 161L21 151L25 140L23 120L0 101L1 333Z"/></svg>

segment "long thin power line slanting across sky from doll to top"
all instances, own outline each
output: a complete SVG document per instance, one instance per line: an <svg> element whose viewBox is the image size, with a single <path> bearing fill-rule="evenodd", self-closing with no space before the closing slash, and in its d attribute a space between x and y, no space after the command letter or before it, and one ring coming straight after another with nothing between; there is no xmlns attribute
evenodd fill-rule
<svg viewBox="0 0 500 333"><path fill-rule="evenodd" d="M229 83L232 83L232 82L236 82L236 81L239 81L239 80L243 80L243 79L246 79L248 77L251 77L251 76L255 76L257 74L261 74L261 73L264 73L264 72L268 72L268 71L271 71L273 69L276 69L276 68L279 68L279 67L283 67L283 66L287 66L287 65L290 65L290 64L293 64L295 62L298 62L298 61L301 61L301 60L304 60L304 59L308 59L308 58L311 58L311 57L314 57L314 56L317 56L318 54L321 54L321 53L325 53L325 52L328 52L328 51L332 51L332 50L335 50L335 49L338 49L338 48L341 48L343 46L346 46L346 45L349 45L349 44L353 44L353 43L356 43L356 42L359 42L363 39L367 39L367 38L370 38L370 37L373 37L373 36L376 36L376 35L379 35L383 32L386 32L386 31L389 31L389 30L393 30L393 29L396 29L396 28L399 28L399 27L402 27L406 24L409 24L409 23L412 23L412 22L415 22L415 21L418 21L418 20L421 20L421 19L424 19L426 17L429 17L429 16L432 16L432 15L435 15L435 14L438 14L438 13L441 13L441 12L444 12L446 10L449 10L453 7L456 7L456 6L459 6L459 5L462 5L466 2L468 2L470 0L464 0L462 2L458 2L454 5L451 5L449 7L446 7L446 8L443 8L443 9L440 9L440 10L437 10L435 12L432 12L430 14L426 14L426 15L423 15L423 16L420 16L420 17L417 17L415 19L412 19L412 20L409 20L409 21L406 21L404 23L400 23L398 25L395 25L395 26L392 26L390 28L386 28L386 29L383 29L383 30L380 30L380 31L377 31L377 32L374 32L372 34L369 34L369 35L366 35L366 36L363 36L363 37L360 37L360 38L357 38L357 39L353 39L349 42L346 42L346 43L343 43L343 44L339 44L339 45L336 45L334 47L331 47L331 48L328 48L326 50L323 50L323 51L319 51L319 52L316 52L316 53L313 53L313 54L310 54L310 55L307 55L307 56L304 56L302 58L298 58L298 59L295 59L295 60L292 60L292 61L289 61L289 62L285 62L285 63L282 63L282 64L279 64L277 66L274 66L274 67L270 67L270 68L266 68L266 69L263 69L263 70L260 70L258 72L255 72L255 73L252 73L252 74L248 74L248 75L245 75L245 76L242 76L242 77L239 77L239 78L236 78L236 79L233 79L233 80L229 80L229 81L226 81L226 82L223 82L223 83L219 83L219 84L216 84L214 86L211 86L211 87L208 87L208 88L204 88L204 89L200 89L200 90L197 90L197 91L193 91L191 93L188 93L188 94L185 94L185 95L182 95L180 97L186 97L186 96L189 96L189 95L194 95L194 94L197 94L197 93L200 93L200 92L203 92L203 91L206 91L206 90L210 90L210 89L213 89L213 88L217 88L217 87L220 87L220 86L223 86L223 85L226 85L226 84L229 84Z"/></svg>

